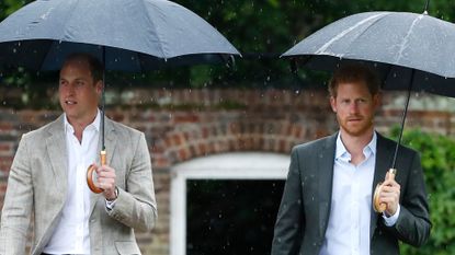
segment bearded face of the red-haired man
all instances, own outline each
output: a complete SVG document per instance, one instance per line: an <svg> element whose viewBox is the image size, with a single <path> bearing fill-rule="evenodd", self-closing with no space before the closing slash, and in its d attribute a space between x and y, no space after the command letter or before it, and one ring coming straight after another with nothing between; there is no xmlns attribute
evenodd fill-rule
<svg viewBox="0 0 455 255"><path fill-rule="evenodd" d="M341 132L352 137L373 132L374 114L379 104L380 95L372 95L364 82L340 83L337 97L330 97Z"/></svg>

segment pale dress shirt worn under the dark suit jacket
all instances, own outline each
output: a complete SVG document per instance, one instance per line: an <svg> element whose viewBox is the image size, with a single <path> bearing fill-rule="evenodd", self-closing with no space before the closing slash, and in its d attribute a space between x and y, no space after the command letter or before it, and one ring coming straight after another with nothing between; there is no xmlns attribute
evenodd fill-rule
<svg viewBox="0 0 455 255"><path fill-rule="evenodd" d="M374 132L373 139L363 149L365 160L354 165L351 164L351 154L338 135L329 224L320 255L369 254L376 140Z"/></svg>

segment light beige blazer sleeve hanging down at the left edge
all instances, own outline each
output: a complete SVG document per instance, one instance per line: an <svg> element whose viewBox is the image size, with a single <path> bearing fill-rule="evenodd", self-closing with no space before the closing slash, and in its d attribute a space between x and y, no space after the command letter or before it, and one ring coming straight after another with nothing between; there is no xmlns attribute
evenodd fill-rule
<svg viewBox="0 0 455 255"><path fill-rule="evenodd" d="M0 254L25 254L33 207L33 187L26 135L15 153L1 212Z"/></svg>

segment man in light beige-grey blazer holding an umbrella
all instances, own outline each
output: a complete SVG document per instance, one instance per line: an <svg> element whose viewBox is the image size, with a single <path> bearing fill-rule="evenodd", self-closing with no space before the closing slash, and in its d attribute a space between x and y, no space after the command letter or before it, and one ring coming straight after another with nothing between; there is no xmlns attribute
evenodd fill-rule
<svg viewBox="0 0 455 255"><path fill-rule="evenodd" d="M31 254L140 254L134 230L151 230L157 218L144 134L105 118L107 162L95 166L103 193L86 183L87 167L100 162L102 72L95 58L70 56L59 81L65 113L22 137L1 215L0 254L25 253L31 219Z"/></svg>

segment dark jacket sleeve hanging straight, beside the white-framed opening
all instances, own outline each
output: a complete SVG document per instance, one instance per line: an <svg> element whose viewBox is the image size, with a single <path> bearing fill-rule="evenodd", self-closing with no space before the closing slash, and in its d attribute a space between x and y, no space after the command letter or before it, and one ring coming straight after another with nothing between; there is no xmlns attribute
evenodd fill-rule
<svg viewBox="0 0 455 255"><path fill-rule="evenodd" d="M289 172L276 218L272 242L272 255L293 255L300 248L305 217L302 197L302 178L297 149L291 155Z"/></svg>

